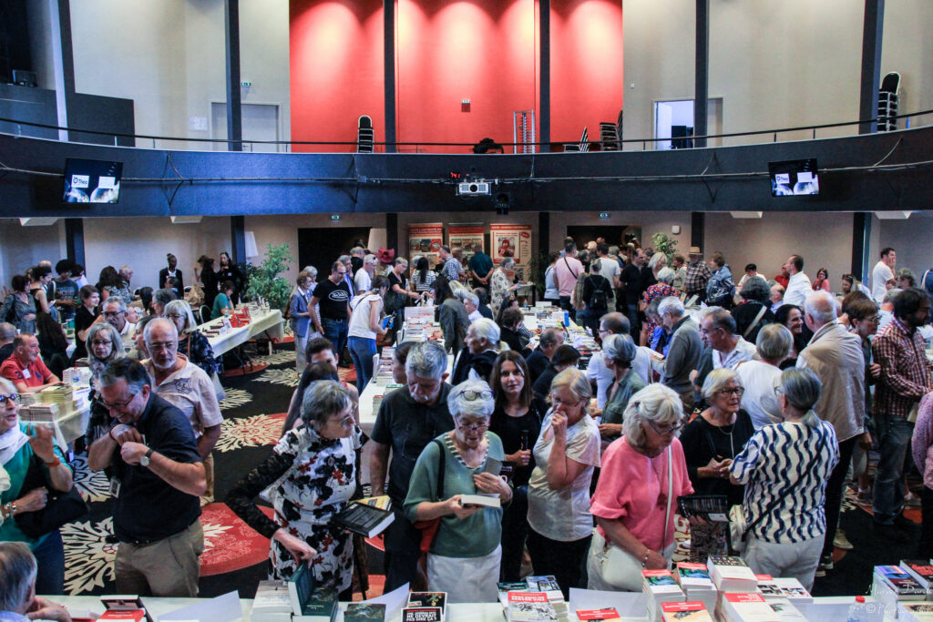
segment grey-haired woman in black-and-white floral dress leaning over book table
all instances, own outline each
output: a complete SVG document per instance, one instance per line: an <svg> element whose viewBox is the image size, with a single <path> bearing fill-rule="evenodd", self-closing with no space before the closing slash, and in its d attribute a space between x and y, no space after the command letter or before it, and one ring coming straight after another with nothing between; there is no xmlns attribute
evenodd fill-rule
<svg viewBox="0 0 933 622"><path fill-rule="evenodd" d="M353 538L332 526L356 489L356 456L363 432L350 394L333 380L308 387L301 404L304 423L290 430L272 456L241 479L227 495L227 505L246 524L272 539L270 578L287 579L307 563L319 586L353 596ZM274 484L274 519L253 500Z"/></svg>

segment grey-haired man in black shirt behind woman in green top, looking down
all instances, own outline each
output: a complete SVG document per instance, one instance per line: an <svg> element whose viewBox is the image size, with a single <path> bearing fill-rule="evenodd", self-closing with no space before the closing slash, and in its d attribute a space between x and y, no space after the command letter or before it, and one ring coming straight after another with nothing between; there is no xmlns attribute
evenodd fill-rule
<svg viewBox="0 0 933 622"><path fill-rule="evenodd" d="M415 580L421 532L405 517L402 504L408 495L415 461L428 443L453 430L447 408L451 385L447 378L447 352L425 341L411 347L405 361L408 386L385 395L372 429L374 449L369 459L372 494L383 494L389 454L388 495L396 518L385 532L385 591Z"/></svg>

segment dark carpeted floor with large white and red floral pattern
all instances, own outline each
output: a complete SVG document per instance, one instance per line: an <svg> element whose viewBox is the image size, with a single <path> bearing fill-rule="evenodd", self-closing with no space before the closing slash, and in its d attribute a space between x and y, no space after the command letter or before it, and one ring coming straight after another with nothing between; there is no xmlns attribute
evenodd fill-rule
<svg viewBox="0 0 933 622"><path fill-rule="evenodd" d="M262 462L279 439L288 401L298 384L295 352L291 343L278 344L269 356L256 360L265 365L254 374L226 377L223 384L227 399L221 403L224 415L220 440L214 450L216 503L204 508L205 551L202 556L201 594L213 597L239 591L242 598L252 598L258 581L266 577L269 541L249 529L222 502L227 491L250 469ZM355 380L353 369L341 368L343 380ZM62 530L65 543L65 592L67 594L104 594L117 591L113 559L117 545L108 544L112 532L107 481L103 474L86 468L86 456L77 457L76 483L91 502L91 515ZM919 523L919 510L908 512ZM898 563L913 557L915 544L891 545L875 538L869 511L847 498L842 505L840 526L855 550L836 551L834 570L817 578L814 594L818 596L866 593L870 588L872 567ZM686 555L688 523L677 521L678 553ZM371 598L382 593L383 556L380 543L368 543L369 591ZM357 592L355 598L361 598Z"/></svg>

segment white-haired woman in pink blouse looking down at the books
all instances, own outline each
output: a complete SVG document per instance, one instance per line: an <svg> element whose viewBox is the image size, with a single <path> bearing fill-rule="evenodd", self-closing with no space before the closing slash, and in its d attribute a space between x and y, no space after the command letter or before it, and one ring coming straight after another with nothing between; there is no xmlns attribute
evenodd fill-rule
<svg viewBox="0 0 933 622"><path fill-rule="evenodd" d="M649 384L629 400L623 436L606 449L592 496L590 589L639 591L642 570L670 563L675 500L693 492L676 438L682 418L680 397L662 384Z"/></svg>

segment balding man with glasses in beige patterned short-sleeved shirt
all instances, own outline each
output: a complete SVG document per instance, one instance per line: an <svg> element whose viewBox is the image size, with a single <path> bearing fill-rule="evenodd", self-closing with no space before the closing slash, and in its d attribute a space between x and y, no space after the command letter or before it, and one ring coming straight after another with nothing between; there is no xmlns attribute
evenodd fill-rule
<svg viewBox="0 0 933 622"><path fill-rule="evenodd" d="M220 423L224 421L214 383L201 367L178 353L178 332L171 320L159 318L149 322L143 330L143 339L149 352L143 366L153 380L153 391L181 410L191 422L207 483L201 505L212 503L214 456L211 451L220 438Z"/></svg>

